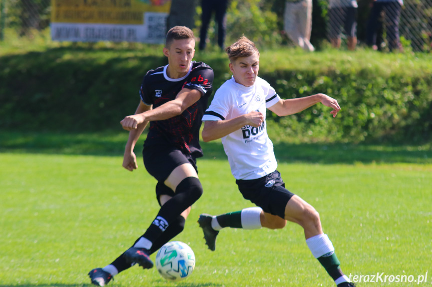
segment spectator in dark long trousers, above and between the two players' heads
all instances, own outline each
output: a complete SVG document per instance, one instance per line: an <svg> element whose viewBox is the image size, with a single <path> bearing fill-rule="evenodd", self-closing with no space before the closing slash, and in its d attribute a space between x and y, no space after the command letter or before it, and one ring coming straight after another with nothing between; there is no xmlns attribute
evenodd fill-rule
<svg viewBox="0 0 432 287"><path fill-rule="evenodd" d="M226 10L228 8L228 0L201 0L201 30L199 49L204 50L206 47L207 30L210 24L210 19L213 11L215 12L215 20L217 22L218 46L224 49L226 35Z"/></svg>

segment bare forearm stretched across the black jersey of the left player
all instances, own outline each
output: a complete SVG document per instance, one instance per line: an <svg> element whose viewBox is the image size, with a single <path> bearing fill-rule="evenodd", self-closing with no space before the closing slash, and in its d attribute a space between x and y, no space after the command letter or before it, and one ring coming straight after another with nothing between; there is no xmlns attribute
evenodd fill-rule
<svg viewBox="0 0 432 287"><path fill-rule="evenodd" d="M140 123L145 121L161 121L172 118L184 112L188 107L196 103L202 94L195 89L183 88L177 97L155 109L143 113L125 117L120 123L125 130L136 129Z"/></svg>

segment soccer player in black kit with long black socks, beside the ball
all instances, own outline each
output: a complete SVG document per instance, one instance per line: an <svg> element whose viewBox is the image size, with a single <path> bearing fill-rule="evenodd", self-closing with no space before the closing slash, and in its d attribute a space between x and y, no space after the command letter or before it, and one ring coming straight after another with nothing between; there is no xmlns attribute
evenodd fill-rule
<svg viewBox="0 0 432 287"><path fill-rule="evenodd" d="M196 158L203 155L199 130L213 89L213 70L203 62L192 61L195 38L187 27L175 26L168 31L163 53L168 65L147 72L135 114L121 121L130 131L123 159L123 167L129 171L138 167L134 147L150 122L143 159L147 171L158 181L156 195L161 208L131 248L106 267L90 271L90 279L97 286L105 286L134 264L152 268L149 255L183 231L191 205L203 192Z"/></svg>

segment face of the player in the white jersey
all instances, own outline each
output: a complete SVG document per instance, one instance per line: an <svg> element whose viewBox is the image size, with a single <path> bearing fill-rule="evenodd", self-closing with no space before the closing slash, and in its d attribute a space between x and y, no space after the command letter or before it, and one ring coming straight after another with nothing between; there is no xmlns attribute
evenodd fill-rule
<svg viewBox="0 0 432 287"><path fill-rule="evenodd" d="M238 58L229 64L229 68L237 83L246 87L253 86L258 75L259 56L254 53L249 57Z"/></svg>

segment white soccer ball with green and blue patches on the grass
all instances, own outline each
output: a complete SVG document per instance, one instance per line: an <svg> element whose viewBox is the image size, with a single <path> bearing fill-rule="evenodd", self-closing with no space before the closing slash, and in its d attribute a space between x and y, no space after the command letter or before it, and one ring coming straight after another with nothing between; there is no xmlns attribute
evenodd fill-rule
<svg viewBox="0 0 432 287"><path fill-rule="evenodd" d="M186 243L171 241L159 249L156 255L159 274L170 281L188 278L195 268L195 254Z"/></svg>

